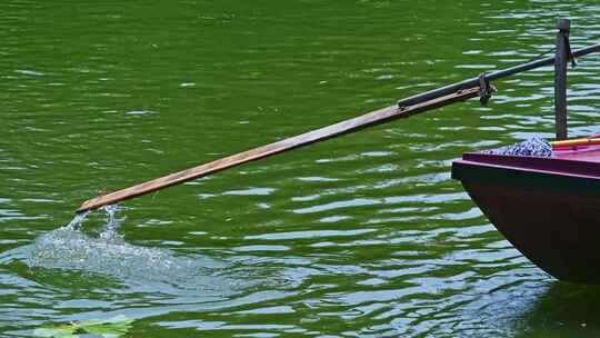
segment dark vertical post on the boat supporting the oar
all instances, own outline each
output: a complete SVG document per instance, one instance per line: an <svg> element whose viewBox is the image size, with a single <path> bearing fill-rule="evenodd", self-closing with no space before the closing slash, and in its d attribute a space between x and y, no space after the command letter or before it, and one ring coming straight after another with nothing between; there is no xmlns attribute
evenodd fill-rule
<svg viewBox="0 0 600 338"><path fill-rule="evenodd" d="M567 139L567 61L568 39L571 21L558 19L557 51L554 57L554 118L557 123L557 140Z"/></svg>

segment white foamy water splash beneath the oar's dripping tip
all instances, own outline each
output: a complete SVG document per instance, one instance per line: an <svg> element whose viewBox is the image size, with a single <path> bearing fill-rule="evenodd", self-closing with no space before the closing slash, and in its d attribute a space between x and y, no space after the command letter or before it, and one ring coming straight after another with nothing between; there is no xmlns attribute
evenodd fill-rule
<svg viewBox="0 0 600 338"><path fill-rule="evenodd" d="M39 237L30 247L26 264L30 268L93 272L136 284L161 282L177 286L176 289L214 289L228 284L216 276L222 262L126 242L119 233L126 220L117 217L119 208L110 206L103 211L106 223L97 236L81 231L88 213L77 215L68 226Z"/></svg>

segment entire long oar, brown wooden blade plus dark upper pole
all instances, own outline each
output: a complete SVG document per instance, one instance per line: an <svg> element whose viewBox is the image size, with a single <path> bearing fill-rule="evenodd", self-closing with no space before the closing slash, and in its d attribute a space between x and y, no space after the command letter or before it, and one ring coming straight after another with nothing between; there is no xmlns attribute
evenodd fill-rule
<svg viewBox="0 0 600 338"><path fill-rule="evenodd" d="M600 51L600 43L593 44L572 52L572 57L582 57L592 52ZM133 186L123 190L119 190L109 195L100 196L86 201L77 212L83 212L88 210L98 209L100 207L112 205L118 201L122 201L129 198L133 198L140 195L144 195L151 191L163 189L170 186L179 185L192 179L197 179L217 171L224 170L241 163L266 158L282 151L310 145L313 142L322 141L332 137L337 137L343 133L352 132L364 127L383 123L397 118L406 118L411 115L428 111L434 108L447 106L457 101L468 100L478 96L480 86L483 88L482 99L486 98L486 93L490 89L488 82L498 80L501 78L510 77L512 74L523 72L527 70L546 67L554 63L554 57L546 58L537 61L518 64L508 69L499 70L491 73L482 73L478 78L468 79L461 82L452 83L436 90L427 91L398 102L398 106L383 108L381 110L372 111L353 118L347 121L342 121L329 127L324 127L318 130L313 130L307 133L302 133L279 142L267 145L260 148L248 150L238 155L226 157L220 160L212 161L202 166L198 166L188 170L171 173L169 176L158 178L144 183ZM483 102L484 100L482 100Z"/></svg>

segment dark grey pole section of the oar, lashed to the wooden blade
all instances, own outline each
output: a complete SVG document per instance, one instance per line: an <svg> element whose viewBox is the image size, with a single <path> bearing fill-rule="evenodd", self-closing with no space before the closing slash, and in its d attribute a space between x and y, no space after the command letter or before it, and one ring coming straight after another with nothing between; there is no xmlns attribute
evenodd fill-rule
<svg viewBox="0 0 600 338"><path fill-rule="evenodd" d="M587 56L589 53L599 52L599 51L600 51L600 43L576 50L576 51L573 51L573 57L580 58L580 57ZM523 72L523 71L528 71L528 70L532 70L532 69L537 69L537 68L541 68L541 67L547 67L547 66L551 66L551 64L554 64L554 57L549 57L549 58L546 58L546 59L540 59L540 60L522 63L522 64L519 64L519 66L514 66L514 67L511 67L511 68L507 68L507 69L498 70L498 71L494 71L494 72L490 72L490 73L486 74L486 79L488 81L493 81L493 80L507 78L507 77L510 77L510 76L513 76L513 74L517 74L517 73L520 73L520 72ZM447 96L449 93L456 92L458 90L462 90L462 89L471 88L471 87L474 87L474 86L479 86L479 82L480 82L479 78L472 78L472 79L468 79L468 80L464 80L464 81L448 84L448 86L439 88L439 89L426 91L423 93L416 95L416 96L406 98L403 100L400 100L400 101L398 101L398 106L399 107L412 106L412 105L417 105L419 102L432 100L432 99L436 99L436 98L439 98L439 97Z"/></svg>

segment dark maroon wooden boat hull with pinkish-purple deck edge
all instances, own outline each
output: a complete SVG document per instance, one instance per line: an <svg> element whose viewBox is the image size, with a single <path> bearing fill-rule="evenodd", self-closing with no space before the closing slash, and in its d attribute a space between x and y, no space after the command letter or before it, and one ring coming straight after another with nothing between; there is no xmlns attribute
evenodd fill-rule
<svg viewBox="0 0 600 338"><path fill-rule="evenodd" d="M600 284L600 146L551 157L464 153L452 178L498 230L553 277Z"/></svg>

